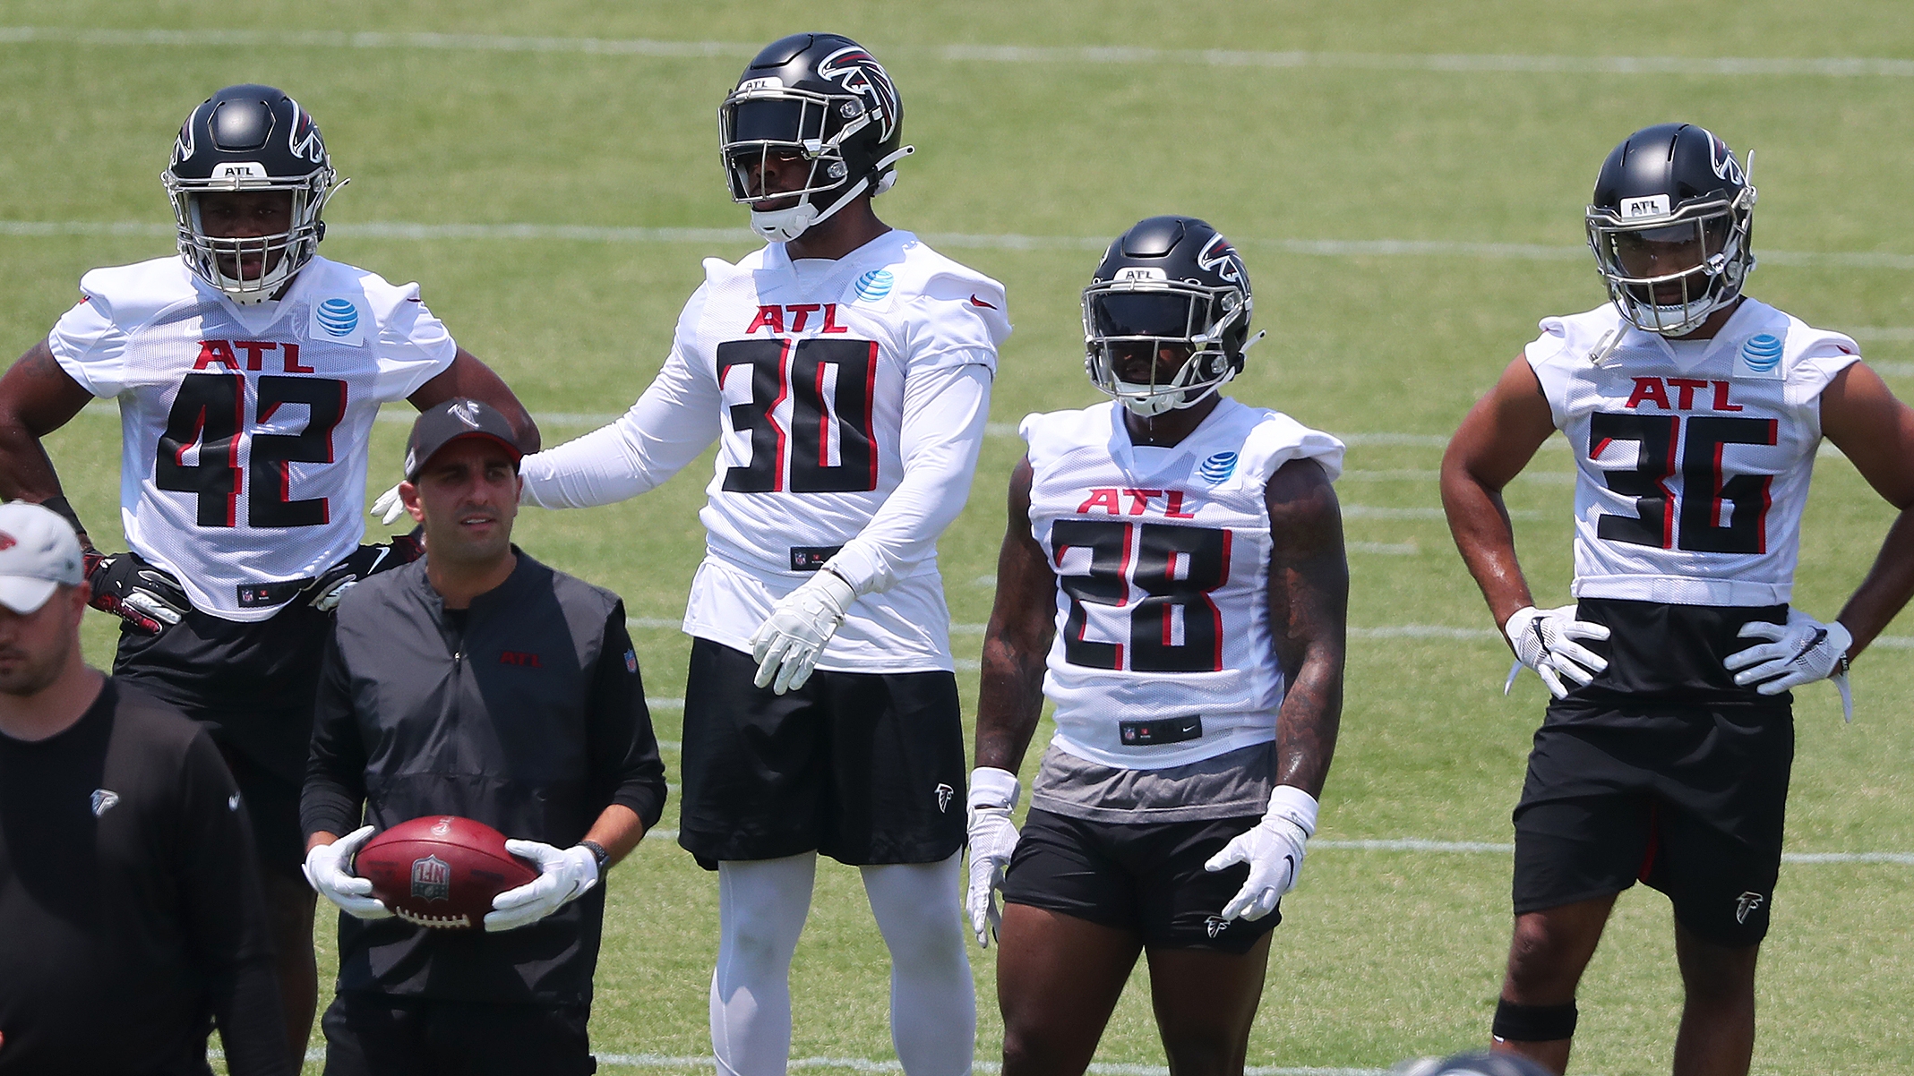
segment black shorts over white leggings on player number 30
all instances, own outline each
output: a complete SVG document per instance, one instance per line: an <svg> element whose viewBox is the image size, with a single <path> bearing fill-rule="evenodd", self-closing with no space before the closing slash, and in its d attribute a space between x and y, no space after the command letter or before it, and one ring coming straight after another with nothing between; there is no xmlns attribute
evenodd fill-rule
<svg viewBox="0 0 1914 1076"><path fill-rule="evenodd" d="M965 752L949 672L825 672L752 685L758 662L691 639L678 842L704 869L817 850L936 863L963 846Z"/></svg>

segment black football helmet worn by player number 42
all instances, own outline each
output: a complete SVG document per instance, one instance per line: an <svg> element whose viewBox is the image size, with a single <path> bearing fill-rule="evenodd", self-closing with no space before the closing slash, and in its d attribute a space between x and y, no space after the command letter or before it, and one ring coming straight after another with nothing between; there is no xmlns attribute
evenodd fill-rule
<svg viewBox="0 0 1914 1076"><path fill-rule="evenodd" d="M161 182L172 197L180 257L235 303L272 297L312 260L325 237L320 213L345 186L312 115L281 90L251 84L226 86L186 117ZM207 191L287 191L291 226L247 239L207 235L199 220L199 195ZM245 276L241 253L260 255L256 276Z"/></svg>

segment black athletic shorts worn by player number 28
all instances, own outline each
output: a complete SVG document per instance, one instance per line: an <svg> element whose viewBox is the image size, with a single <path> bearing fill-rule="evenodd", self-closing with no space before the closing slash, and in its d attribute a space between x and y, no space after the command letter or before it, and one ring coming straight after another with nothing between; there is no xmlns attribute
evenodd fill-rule
<svg viewBox="0 0 1914 1076"><path fill-rule="evenodd" d="M1248 863L1206 871L1210 856L1261 816L1196 821L1087 821L1032 810L1003 877L1005 904L1129 930L1152 950L1246 953L1282 923L1282 908L1261 919L1223 919Z"/></svg>

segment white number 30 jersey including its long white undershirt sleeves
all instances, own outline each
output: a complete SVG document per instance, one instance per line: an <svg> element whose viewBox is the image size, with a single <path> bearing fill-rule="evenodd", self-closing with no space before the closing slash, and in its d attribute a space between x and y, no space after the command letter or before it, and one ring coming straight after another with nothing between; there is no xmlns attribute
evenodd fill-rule
<svg viewBox="0 0 1914 1076"><path fill-rule="evenodd" d="M836 260L704 260L658 377L614 425L526 458L524 502L611 504L718 440L685 632L750 649L827 561L857 590L817 666L949 670L936 540L970 490L1003 285L909 232Z"/></svg>

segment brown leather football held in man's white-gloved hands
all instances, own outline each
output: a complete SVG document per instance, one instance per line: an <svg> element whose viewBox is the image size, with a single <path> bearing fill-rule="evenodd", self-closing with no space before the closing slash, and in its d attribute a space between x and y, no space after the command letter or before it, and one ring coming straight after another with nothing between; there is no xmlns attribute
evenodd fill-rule
<svg viewBox="0 0 1914 1076"><path fill-rule="evenodd" d="M450 814L415 818L375 835L352 860L371 894L406 923L471 929L492 898L538 877L505 850L505 835Z"/></svg>

